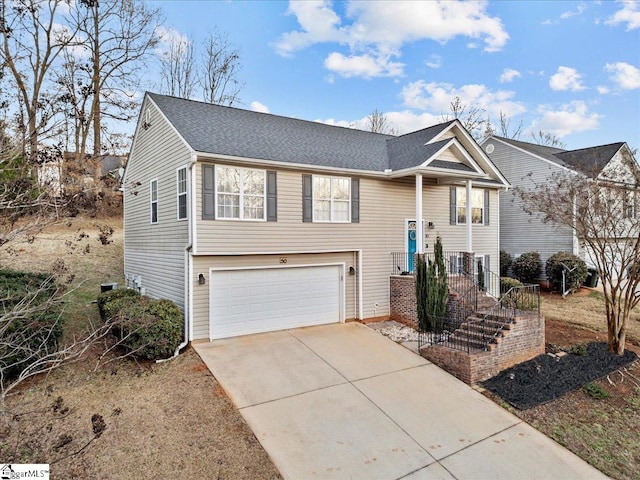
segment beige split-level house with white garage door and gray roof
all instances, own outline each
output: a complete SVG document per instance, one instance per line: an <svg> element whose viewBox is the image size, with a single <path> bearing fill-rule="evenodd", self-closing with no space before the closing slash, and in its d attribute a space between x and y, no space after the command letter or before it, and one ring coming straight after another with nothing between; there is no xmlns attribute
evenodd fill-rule
<svg viewBox="0 0 640 480"><path fill-rule="evenodd" d="M127 286L175 301L189 341L388 318L390 274L438 235L497 271L507 187L457 120L394 137L147 93Z"/></svg>

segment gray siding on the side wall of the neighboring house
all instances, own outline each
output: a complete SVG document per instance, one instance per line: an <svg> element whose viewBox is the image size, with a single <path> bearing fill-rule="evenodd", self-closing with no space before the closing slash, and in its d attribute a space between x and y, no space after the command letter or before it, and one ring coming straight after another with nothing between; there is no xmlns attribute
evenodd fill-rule
<svg viewBox="0 0 640 480"><path fill-rule="evenodd" d="M554 172L563 170L494 139L485 142L483 148L490 143L495 148L489 155L491 160L514 188L533 188L532 180L541 182ZM522 208L522 201L511 189L500 194L500 248L514 256L537 251L544 266L554 253L573 251L573 234L567 228L543 223L540 216L527 214Z"/></svg>

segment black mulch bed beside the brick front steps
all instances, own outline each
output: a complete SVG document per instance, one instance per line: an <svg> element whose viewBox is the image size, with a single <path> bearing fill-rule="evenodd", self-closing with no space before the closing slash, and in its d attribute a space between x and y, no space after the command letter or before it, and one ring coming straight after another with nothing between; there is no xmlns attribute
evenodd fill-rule
<svg viewBox="0 0 640 480"><path fill-rule="evenodd" d="M629 350L624 355L613 355L607 351L606 343L593 342L586 345L584 355L539 355L504 370L482 386L517 409L526 410L555 400L637 359Z"/></svg>

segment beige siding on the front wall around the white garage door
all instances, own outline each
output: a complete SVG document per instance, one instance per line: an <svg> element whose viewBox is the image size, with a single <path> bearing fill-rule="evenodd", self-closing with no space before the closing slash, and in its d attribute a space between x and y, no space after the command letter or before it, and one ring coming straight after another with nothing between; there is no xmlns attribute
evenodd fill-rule
<svg viewBox="0 0 640 480"><path fill-rule="evenodd" d="M363 316L387 316L389 274L393 268L391 252L406 251L406 220L415 217L415 179L360 177L360 223L303 223L302 175L306 173L312 172L278 170L277 222L202 220L201 164L198 164L198 191L195 197L197 238L194 252L198 256L194 259L194 281L197 280L198 273L204 273L206 277L208 268L214 266L212 262L222 261L217 257L221 254L246 254L242 257L234 256L229 261L254 265L257 260L276 262L280 255L296 258L297 254L305 252L344 250L349 253L318 255L343 259L340 261L345 261L348 270L349 265L353 264L356 268L358 266L357 258L352 252L362 250ZM425 232L429 235L426 240L427 251L433 251L437 235L443 238L446 250L464 250L465 226L449 225L449 186L437 185L435 181L428 179L425 179L424 183L424 220L435 225L433 230ZM492 191L490 197L491 225L474 226L473 232L474 250L478 255L490 255L494 269L498 259L497 191ZM262 258L252 255L269 253L274 256ZM308 263L307 258L311 256L301 255L295 261L304 264ZM356 288L356 278L357 276L347 278L347 319L357 316L357 290L353 290ZM352 282L353 285L350 285ZM196 288L194 291L194 338L208 338L207 288Z"/></svg>

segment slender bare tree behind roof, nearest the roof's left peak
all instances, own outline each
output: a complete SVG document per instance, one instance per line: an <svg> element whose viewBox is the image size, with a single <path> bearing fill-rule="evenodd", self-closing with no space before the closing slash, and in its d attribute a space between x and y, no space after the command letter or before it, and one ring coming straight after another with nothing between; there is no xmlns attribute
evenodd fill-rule
<svg viewBox="0 0 640 480"><path fill-rule="evenodd" d="M196 87L193 41L172 38L168 49L160 56L162 93L191 98Z"/></svg>

